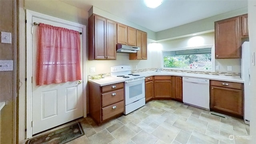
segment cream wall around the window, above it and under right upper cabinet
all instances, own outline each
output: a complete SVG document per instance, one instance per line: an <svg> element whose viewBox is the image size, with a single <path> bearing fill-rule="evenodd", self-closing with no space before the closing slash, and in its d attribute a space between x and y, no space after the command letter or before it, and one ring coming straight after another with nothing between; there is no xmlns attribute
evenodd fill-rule
<svg viewBox="0 0 256 144"><path fill-rule="evenodd" d="M196 39L200 39L199 42L195 42ZM205 46L205 45L214 45L214 32L200 34L196 36L189 36L185 38L178 38L174 40L166 40L158 42L162 44L162 49L167 50L171 48L186 48L194 46ZM161 52L158 52L160 55ZM160 58L160 56L158 56ZM241 72L241 60L238 59L215 59L215 65L219 66L217 72ZM160 60L158 61L158 66L160 67ZM227 70L227 66L232 66L232 71Z"/></svg>

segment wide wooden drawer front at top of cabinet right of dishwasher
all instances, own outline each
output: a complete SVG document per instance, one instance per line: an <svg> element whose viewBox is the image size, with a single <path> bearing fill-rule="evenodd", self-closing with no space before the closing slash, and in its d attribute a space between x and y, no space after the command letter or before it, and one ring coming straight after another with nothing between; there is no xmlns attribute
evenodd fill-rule
<svg viewBox="0 0 256 144"><path fill-rule="evenodd" d="M211 80L211 85L220 86L223 88L234 88L234 89L242 90L242 84L237 82L224 82L224 81Z"/></svg>

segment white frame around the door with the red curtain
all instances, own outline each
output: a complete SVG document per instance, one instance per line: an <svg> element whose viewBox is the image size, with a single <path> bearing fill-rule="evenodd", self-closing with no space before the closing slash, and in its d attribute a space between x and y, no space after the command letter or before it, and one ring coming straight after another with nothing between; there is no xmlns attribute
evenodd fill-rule
<svg viewBox="0 0 256 144"><path fill-rule="evenodd" d="M32 17L42 18L61 24L67 24L82 28L82 76L83 76L83 116L86 117L86 26L75 22L70 22L32 10L26 10L26 138L32 137Z"/></svg>

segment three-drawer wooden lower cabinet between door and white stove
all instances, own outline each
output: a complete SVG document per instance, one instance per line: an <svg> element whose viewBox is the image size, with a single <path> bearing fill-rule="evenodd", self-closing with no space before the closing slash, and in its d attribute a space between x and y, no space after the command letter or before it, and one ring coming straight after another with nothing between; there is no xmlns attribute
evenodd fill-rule
<svg viewBox="0 0 256 144"><path fill-rule="evenodd" d="M100 124L124 112L124 83L98 86L89 82L89 114Z"/></svg>

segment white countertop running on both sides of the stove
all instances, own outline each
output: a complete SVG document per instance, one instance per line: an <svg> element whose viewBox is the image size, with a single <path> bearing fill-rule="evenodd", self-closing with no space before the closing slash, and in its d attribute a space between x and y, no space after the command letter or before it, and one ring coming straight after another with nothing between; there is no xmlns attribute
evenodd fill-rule
<svg viewBox="0 0 256 144"><path fill-rule="evenodd" d="M164 71L161 71L161 72L147 71L147 72L137 72L134 74L140 74L145 77L147 76L182 76L182 77L190 77L190 78L202 78L202 79L208 79L208 80L244 83L244 80L242 80L242 78L240 78L239 76L219 76L219 75L211 75L211 74L192 74L192 73L186 73L186 72L164 72ZM106 86L109 84L124 82L124 79L108 76L99 80L88 80L88 81L93 82L98 86Z"/></svg>

